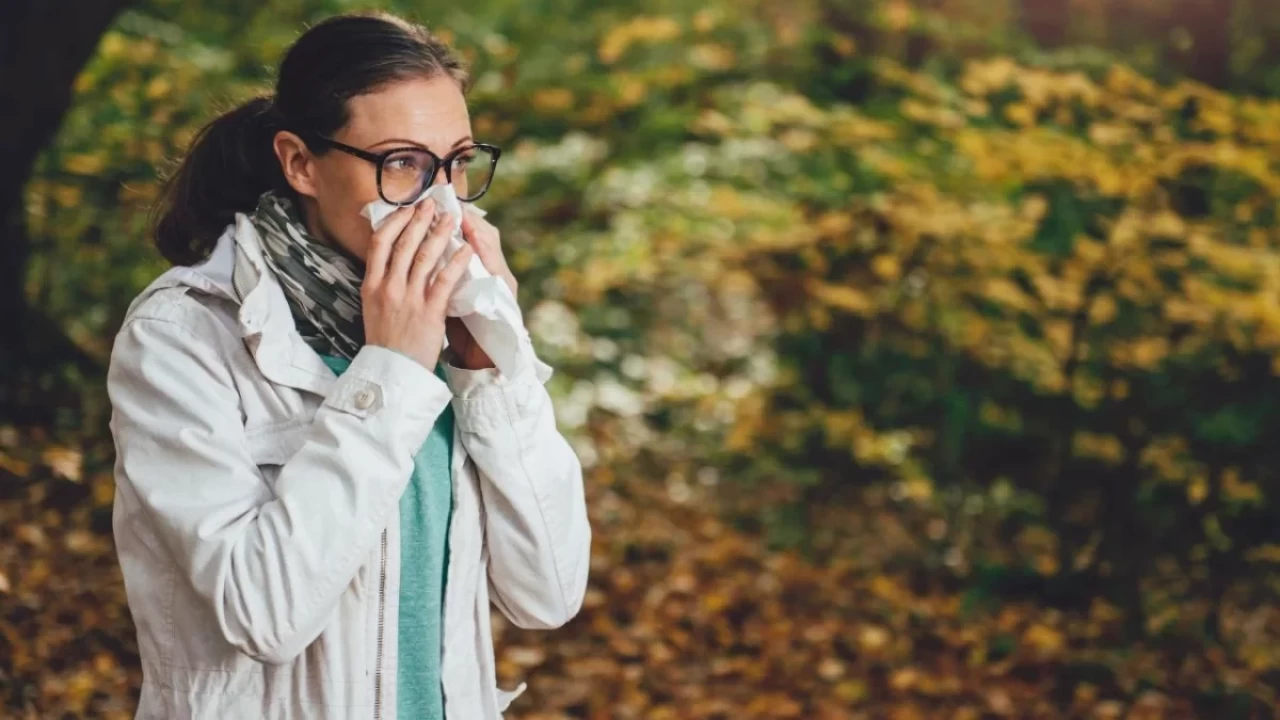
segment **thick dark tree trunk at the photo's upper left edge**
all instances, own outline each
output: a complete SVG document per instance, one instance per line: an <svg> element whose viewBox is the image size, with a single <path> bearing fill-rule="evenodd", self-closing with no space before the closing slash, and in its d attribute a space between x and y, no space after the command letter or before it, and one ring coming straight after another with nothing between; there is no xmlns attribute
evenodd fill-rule
<svg viewBox="0 0 1280 720"><path fill-rule="evenodd" d="M131 0L0 1L0 372L64 360L92 363L28 306L31 254L23 188L70 108L72 86L99 38ZM5 398L0 395L0 406Z"/></svg>

